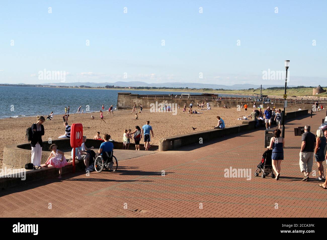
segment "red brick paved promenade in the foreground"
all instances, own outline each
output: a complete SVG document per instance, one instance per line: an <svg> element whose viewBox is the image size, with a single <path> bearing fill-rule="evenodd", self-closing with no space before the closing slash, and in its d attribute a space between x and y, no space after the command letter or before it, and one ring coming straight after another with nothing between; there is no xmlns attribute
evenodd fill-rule
<svg viewBox="0 0 327 240"><path fill-rule="evenodd" d="M299 118L286 124L285 160L279 181L253 176L265 151L262 129L180 151L157 152L120 161L115 173L91 172L88 177L84 172L77 172L63 175L61 181L47 179L2 190L0 215L325 217L327 192L318 187L318 180L301 181L301 136L294 136L293 131L294 127L310 124L315 133L325 116L324 110L313 118ZM326 163L323 164L326 169ZM230 167L251 168L251 179L225 178L224 169ZM315 161L313 169L318 173ZM52 209L48 209L49 203Z"/></svg>

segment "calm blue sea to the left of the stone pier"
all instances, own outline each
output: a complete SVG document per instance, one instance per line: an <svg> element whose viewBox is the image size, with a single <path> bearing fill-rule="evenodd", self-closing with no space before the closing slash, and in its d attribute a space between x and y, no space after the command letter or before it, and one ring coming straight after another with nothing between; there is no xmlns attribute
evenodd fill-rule
<svg viewBox="0 0 327 240"><path fill-rule="evenodd" d="M39 88L39 87L7 87L0 86L0 118L18 118L27 116L47 116L53 111L64 114L65 107L70 106L69 113L76 113L77 108L86 111L89 105L90 112L105 110L110 105L117 105L118 92L131 92L135 94L201 94L195 92L171 91L138 91L114 89L80 89L80 88Z"/></svg>

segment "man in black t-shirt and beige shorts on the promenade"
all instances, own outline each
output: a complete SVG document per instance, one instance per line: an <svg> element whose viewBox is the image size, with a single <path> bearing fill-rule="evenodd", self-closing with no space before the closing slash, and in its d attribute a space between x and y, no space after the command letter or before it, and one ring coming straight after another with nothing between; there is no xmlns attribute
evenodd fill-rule
<svg viewBox="0 0 327 240"><path fill-rule="evenodd" d="M312 171L313 151L316 147L316 136L310 132L310 126L305 125L304 133L302 134L302 145L300 152L300 169L304 173L302 181L309 179L309 174Z"/></svg>

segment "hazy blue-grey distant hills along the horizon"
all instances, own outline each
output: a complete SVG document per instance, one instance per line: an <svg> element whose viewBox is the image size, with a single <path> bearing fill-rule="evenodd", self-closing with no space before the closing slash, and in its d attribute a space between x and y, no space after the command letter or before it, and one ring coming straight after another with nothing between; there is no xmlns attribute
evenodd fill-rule
<svg viewBox="0 0 327 240"><path fill-rule="evenodd" d="M260 88L260 85L253 84L234 84L232 86L218 85L218 84L204 84L204 83L145 83L145 82L115 82L115 83L92 83L92 82L75 82L75 83L47 83L52 86L90 86L90 87L105 87L106 85L113 85L119 87L166 87L166 88L213 88L226 90L240 90L249 88ZM283 87L284 85L262 85L263 88ZM296 87L290 85L288 87Z"/></svg>

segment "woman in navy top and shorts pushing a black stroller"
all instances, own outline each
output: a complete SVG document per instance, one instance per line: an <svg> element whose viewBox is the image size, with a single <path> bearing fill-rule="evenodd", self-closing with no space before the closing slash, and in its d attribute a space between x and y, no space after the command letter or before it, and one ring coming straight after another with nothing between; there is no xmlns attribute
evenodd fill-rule
<svg viewBox="0 0 327 240"><path fill-rule="evenodd" d="M279 179L279 175L281 173L281 163L284 160L284 138L281 137L281 130L274 130L274 137L270 139L270 145L267 147L268 149L272 148L272 168L276 172L276 180Z"/></svg>

